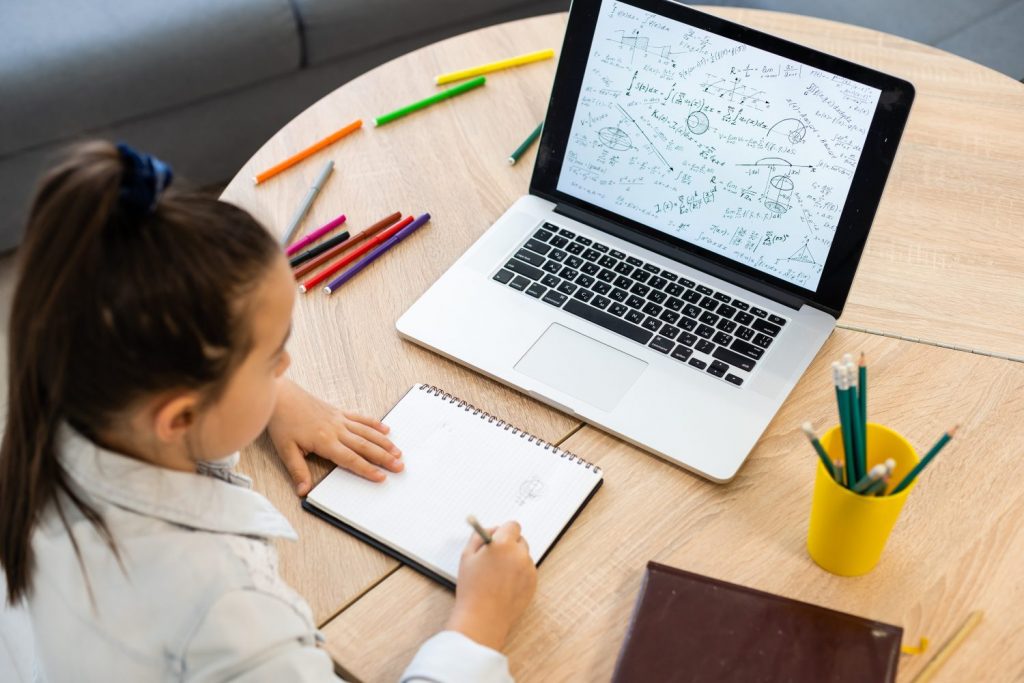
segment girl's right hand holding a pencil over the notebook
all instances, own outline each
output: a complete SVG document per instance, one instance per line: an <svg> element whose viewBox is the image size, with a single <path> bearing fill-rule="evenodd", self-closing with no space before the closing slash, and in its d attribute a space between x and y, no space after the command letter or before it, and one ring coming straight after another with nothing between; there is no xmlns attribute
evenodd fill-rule
<svg viewBox="0 0 1024 683"><path fill-rule="evenodd" d="M489 531L494 537L489 544L474 532L462 551L455 608L446 628L500 650L534 597L537 567L519 524L507 522Z"/></svg>

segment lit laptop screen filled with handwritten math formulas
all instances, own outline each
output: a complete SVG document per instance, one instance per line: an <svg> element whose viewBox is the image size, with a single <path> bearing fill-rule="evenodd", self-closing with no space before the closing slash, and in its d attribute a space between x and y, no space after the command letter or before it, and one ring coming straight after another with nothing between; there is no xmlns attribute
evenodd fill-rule
<svg viewBox="0 0 1024 683"><path fill-rule="evenodd" d="M557 189L815 292L882 92L604 0Z"/></svg>

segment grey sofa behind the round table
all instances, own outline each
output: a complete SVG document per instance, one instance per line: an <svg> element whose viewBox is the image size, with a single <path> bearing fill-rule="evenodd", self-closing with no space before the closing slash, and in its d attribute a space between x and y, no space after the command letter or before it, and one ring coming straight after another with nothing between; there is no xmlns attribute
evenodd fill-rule
<svg viewBox="0 0 1024 683"><path fill-rule="evenodd" d="M1024 76L1024 0L735 0L881 29ZM568 0L0 0L0 251L40 172L83 136L125 139L198 183L361 72Z"/></svg>

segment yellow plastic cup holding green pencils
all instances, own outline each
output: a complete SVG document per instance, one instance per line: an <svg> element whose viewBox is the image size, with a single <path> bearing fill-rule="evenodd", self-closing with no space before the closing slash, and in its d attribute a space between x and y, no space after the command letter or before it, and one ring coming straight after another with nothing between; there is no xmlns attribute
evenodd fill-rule
<svg viewBox="0 0 1024 683"><path fill-rule="evenodd" d="M843 433L833 427L821 437L821 445L833 460L845 462ZM897 432L867 423L867 469L892 458L896 471L887 490L892 490L918 464L918 454ZM841 577L859 577L874 568L885 550L906 497L916 480L894 496L861 496L841 486L817 461L807 551L821 568Z"/></svg>

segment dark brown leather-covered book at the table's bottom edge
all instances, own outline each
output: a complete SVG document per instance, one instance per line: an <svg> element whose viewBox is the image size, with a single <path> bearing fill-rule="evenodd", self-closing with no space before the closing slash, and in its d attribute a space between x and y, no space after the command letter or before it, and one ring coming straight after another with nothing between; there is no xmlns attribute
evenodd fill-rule
<svg viewBox="0 0 1024 683"><path fill-rule="evenodd" d="M614 681L895 681L903 629L647 563Z"/></svg>

